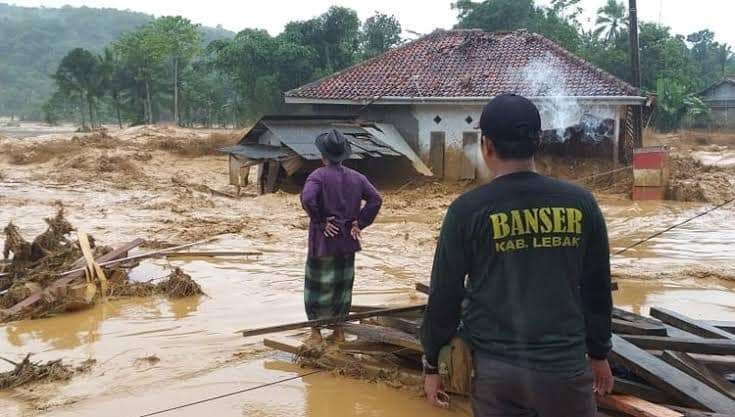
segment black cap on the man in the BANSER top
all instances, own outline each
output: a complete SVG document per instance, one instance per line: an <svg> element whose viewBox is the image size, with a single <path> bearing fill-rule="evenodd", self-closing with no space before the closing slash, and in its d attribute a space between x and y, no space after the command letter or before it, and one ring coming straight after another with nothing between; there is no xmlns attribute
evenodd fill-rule
<svg viewBox="0 0 735 417"><path fill-rule="evenodd" d="M482 110L480 129L483 136L493 141L539 140L541 116L531 100L504 94Z"/></svg>

